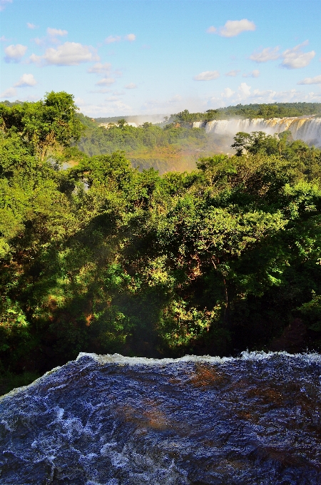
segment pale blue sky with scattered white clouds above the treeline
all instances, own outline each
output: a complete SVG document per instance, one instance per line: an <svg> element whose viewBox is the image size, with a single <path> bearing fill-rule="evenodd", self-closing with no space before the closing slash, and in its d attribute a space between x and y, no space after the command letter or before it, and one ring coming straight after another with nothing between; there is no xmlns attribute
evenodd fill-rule
<svg viewBox="0 0 321 485"><path fill-rule="evenodd" d="M0 99L88 116L321 102L320 0L0 0Z"/></svg>

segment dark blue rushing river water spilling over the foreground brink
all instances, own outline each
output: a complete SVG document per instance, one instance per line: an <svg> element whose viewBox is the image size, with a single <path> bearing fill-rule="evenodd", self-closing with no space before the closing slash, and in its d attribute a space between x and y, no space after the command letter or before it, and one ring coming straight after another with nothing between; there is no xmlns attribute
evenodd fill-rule
<svg viewBox="0 0 321 485"><path fill-rule="evenodd" d="M79 354L0 399L0 484L321 483L321 356Z"/></svg>

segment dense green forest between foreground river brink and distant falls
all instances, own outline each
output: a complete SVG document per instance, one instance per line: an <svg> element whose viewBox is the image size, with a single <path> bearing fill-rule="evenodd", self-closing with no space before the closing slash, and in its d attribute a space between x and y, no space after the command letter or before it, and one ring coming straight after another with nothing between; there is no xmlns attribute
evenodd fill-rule
<svg viewBox="0 0 321 485"><path fill-rule="evenodd" d="M277 349L293 322L320 352L321 151L238 133L161 175L126 151L205 131L118 126L97 155L91 123L65 92L0 103L0 394L78 352Z"/></svg>

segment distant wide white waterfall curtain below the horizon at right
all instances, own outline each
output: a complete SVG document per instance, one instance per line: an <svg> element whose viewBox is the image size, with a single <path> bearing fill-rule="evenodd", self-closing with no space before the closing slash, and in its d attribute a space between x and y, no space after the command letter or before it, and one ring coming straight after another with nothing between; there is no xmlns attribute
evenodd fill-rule
<svg viewBox="0 0 321 485"><path fill-rule="evenodd" d="M200 128L202 125L199 123L202 122L193 123L193 127ZM207 133L226 136L235 136L235 133L238 133L238 131L245 131L245 133L264 131L268 135L274 135L285 130L290 130L295 140L300 139L309 145L321 146L321 118L312 116L272 118L270 120L265 120L264 118L215 120L209 121L205 125Z"/></svg>

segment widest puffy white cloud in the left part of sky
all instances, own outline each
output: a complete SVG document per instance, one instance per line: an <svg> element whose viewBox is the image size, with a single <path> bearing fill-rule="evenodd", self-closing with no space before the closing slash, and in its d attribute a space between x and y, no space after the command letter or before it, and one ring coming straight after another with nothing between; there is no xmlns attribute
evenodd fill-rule
<svg viewBox="0 0 321 485"><path fill-rule="evenodd" d="M99 61L96 49L78 42L65 42L57 48L46 49L44 56L32 54L30 61L41 66L78 66L81 62Z"/></svg>

